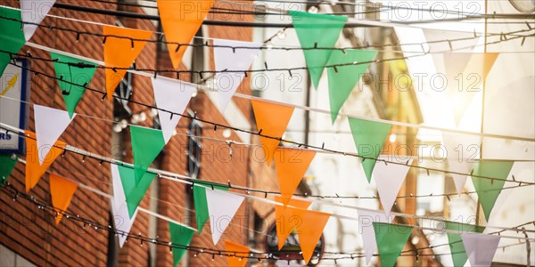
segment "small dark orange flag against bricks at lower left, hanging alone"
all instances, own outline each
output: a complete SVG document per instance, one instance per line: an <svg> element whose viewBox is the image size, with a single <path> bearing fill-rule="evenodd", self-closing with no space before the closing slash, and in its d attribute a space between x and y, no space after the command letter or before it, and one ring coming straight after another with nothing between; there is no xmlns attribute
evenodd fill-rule
<svg viewBox="0 0 535 267"><path fill-rule="evenodd" d="M70 182L56 174L50 174L50 195L52 196L53 208L58 212L56 224L60 224L63 217L63 211L67 210L70 199L78 188L78 184Z"/></svg>

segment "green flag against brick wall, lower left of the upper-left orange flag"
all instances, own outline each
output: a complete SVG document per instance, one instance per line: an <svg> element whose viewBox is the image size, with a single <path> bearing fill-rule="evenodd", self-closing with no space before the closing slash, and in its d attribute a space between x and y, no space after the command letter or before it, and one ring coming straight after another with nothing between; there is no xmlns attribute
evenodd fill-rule
<svg viewBox="0 0 535 267"><path fill-rule="evenodd" d="M60 88L62 89L63 100L65 101L65 106L69 112L69 117L72 117L74 109L76 109L78 102L86 92L86 86L91 83L91 80L95 75L96 64L53 52L50 53L50 57L52 60L60 61L53 62L53 69L55 69L56 77L58 78ZM84 68L79 68L76 66L77 64L86 66Z"/></svg>

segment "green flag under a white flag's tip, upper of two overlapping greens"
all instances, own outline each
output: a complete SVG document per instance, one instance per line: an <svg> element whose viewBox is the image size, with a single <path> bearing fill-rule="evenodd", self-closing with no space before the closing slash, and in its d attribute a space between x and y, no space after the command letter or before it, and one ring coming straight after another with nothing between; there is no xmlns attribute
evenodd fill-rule
<svg viewBox="0 0 535 267"><path fill-rule="evenodd" d="M165 146L165 140L161 130L130 126L130 138L132 140L132 154L134 156L134 169L136 184L151 166L152 161Z"/></svg>

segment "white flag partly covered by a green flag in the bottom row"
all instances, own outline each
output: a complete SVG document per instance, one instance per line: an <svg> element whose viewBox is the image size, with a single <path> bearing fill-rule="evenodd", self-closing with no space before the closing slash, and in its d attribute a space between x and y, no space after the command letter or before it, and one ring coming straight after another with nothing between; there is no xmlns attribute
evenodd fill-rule
<svg viewBox="0 0 535 267"><path fill-rule="evenodd" d="M387 216L379 211L358 209L358 232L362 235L362 245L366 255L366 264L370 263L372 256L377 252L374 223L392 223L394 216Z"/></svg>

